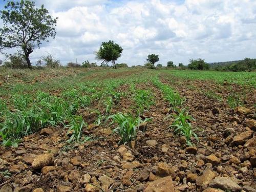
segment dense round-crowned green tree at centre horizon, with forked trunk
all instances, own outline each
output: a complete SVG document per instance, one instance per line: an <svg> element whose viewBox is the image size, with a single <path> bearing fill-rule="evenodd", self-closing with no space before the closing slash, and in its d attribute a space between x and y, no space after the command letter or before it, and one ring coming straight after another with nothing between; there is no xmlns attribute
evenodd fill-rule
<svg viewBox="0 0 256 192"><path fill-rule="evenodd" d="M123 49L115 44L114 41L110 40L109 42L102 42L98 51L95 52L96 59L103 60L100 66L104 62L112 62L112 67L116 69L115 61L121 56Z"/></svg>

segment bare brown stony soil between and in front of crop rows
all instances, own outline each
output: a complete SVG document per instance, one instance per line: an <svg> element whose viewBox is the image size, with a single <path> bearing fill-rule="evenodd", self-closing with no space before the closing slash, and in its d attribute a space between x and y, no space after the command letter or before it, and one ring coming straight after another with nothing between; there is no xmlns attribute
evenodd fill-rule
<svg viewBox="0 0 256 192"><path fill-rule="evenodd" d="M152 89L156 103L141 116L153 119L144 133L137 133L135 142L118 145L120 138L112 134L114 125L96 126L95 112L80 111L89 123L83 134L93 136L93 140L69 145L67 130L48 127L25 137L18 148L1 147L0 171L8 169L12 177L0 177L0 186L6 187L0 191L174 191L170 189L173 186L175 191L254 191L254 92L247 90L247 110L234 111L224 101L208 99L185 84L201 90L223 89L219 94L226 98L224 86L206 81L180 81L177 85L173 83L177 79L171 82L164 76L161 81L186 97L183 107L196 119L191 123L198 129L199 142L194 138L194 147L187 147L184 137L174 135L169 128L174 112L162 93L151 82L140 83L136 88ZM123 85L118 91L127 89L129 86ZM126 94L113 112L127 112L133 105L131 95ZM90 109L104 113L98 103L93 103ZM53 156L48 157L49 154ZM168 176L173 181L168 180L164 187L150 185Z"/></svg>

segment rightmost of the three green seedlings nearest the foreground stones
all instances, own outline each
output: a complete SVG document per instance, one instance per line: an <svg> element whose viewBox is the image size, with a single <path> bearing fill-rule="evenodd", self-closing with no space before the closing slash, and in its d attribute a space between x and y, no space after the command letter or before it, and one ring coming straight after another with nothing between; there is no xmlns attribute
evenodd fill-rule
<svg viewBox="0 0 256 192"><path fill-rule="evenodd" d="M175 115L175 120L171 127L174 127L174 134L182 135L186 137L187 144L193 146L191 143L191 137L194 136L197 141L198 137L195 133L196 129L193 129L190 121L195 120L193 117L188 115L186 109L182 109L178 115Z"/></svg>

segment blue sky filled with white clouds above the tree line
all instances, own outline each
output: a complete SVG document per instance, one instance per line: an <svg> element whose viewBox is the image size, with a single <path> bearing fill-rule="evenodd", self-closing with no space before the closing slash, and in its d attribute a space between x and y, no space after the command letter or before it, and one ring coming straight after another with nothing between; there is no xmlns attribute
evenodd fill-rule
<svg viewBox="0 0 256 192"><path fill-rule="evenodd" d="M94 51L109 40L123 48L117 62L129 66L143 65L148 54L159 55L158 63L164 66L169 60L187 65L191 58L206 62L256 58L256 0L35 2L44 4L58 20L56 38L34 50L33 62L52 54L62 65L76 59L100 63Z"/></svg>

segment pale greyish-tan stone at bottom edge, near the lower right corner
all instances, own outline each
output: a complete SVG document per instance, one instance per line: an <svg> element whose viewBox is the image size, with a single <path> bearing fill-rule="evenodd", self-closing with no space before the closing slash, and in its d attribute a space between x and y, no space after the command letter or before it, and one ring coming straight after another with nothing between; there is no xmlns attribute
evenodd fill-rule
<svg viewBox="0 0 256 192"><path fill-rule="evenodd" d="M225 191L230 190L233 192L237 192L242 189L237 183L227 177L216 177L210 182L209 186L213 188L220 188Z"/></svg>

